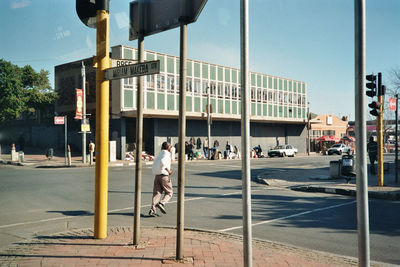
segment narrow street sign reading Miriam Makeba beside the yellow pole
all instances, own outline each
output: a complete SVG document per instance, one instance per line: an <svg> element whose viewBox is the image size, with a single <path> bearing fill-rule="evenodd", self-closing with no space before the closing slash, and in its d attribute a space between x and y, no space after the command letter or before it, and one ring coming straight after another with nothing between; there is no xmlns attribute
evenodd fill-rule
<svg viewBox="0 0 400 267"><path fill-rule="evenodd" d="M160 73L160 60L106 69L106 80L116 80Z"/></svg>

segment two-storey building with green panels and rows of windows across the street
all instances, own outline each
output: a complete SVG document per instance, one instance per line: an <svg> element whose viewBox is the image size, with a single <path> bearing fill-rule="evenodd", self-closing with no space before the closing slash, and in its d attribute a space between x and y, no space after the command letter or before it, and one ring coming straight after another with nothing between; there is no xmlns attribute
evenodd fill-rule
<svg viewBox="0 0 400 267"><path fill-rule="evenodd" d="M136 59L137 50L115 46L112 47L111 57ZM164 140L177 142L179 57L146 51L145 60L160 60L161 64L159 74L144 77L144 149L157 153ZM66 88L61 80L65 81L66 76L79 75L80 72L73 72L72 68L79 68L79 64L56 67L56 90L73 92L73 87ZM89 77L93 71L87 69ZM81 81L79 77L69 80ZM119 153L123 155L125 144L135 140L136 78L113 80L111 88L113 121L110 138L118 141ZM186 90L187 138L204 140L207 136L206 105L210 94L213 120L211 143L218 140L224 146L229 141L240 149L240 70L189 59ZM298 147L300 153L305 152L306 83L250 72L250 90L251 145L260 144L267 150L277 144L291 143Z"/></svg>

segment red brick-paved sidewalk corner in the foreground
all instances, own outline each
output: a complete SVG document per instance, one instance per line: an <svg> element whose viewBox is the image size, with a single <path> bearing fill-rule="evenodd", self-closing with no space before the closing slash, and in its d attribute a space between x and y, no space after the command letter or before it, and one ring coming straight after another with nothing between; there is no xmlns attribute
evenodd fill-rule
<svg viewBox="0 0 400 267"><path fill-rule="evenodd" d="M240 236L185 230L184 259L175 260L176 230L142 228L132 245L132 229L113 228L103 240L91 230L37 236L0 253L1 266L243 266ZM253 266L356 266L357 259L253 240ZM385 266L373 263L372 266Z"/></svg>

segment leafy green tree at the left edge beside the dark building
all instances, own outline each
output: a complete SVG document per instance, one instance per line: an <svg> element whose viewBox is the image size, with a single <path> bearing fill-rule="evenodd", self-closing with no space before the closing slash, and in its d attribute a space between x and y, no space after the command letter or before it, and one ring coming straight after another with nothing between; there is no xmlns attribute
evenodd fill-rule
<svg viewBox="0 0 400 267"><path fill-rule="evenodd" d="M57 94L48 75L48 71L37 73L29 65L21 68L0 59L0 123L51 107Z"/></svg>

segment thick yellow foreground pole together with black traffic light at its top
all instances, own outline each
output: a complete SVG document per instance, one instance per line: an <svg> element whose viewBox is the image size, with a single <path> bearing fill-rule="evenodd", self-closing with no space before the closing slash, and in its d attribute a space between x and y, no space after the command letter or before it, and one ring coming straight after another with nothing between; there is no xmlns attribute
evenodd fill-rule
<svg viewBox="0 0 400 267"><path fill-rule="evenodd" d="M94 199L94 238L107 237L108 199L108 135L109 81L105 70L110 66L109 0L76 0L79 19L88 27L96 28L96 174ZM85 93L83 94L85 97ZM86 100L83 101L86 103ZM86 107L84 108L84 111Z"/></svg>

